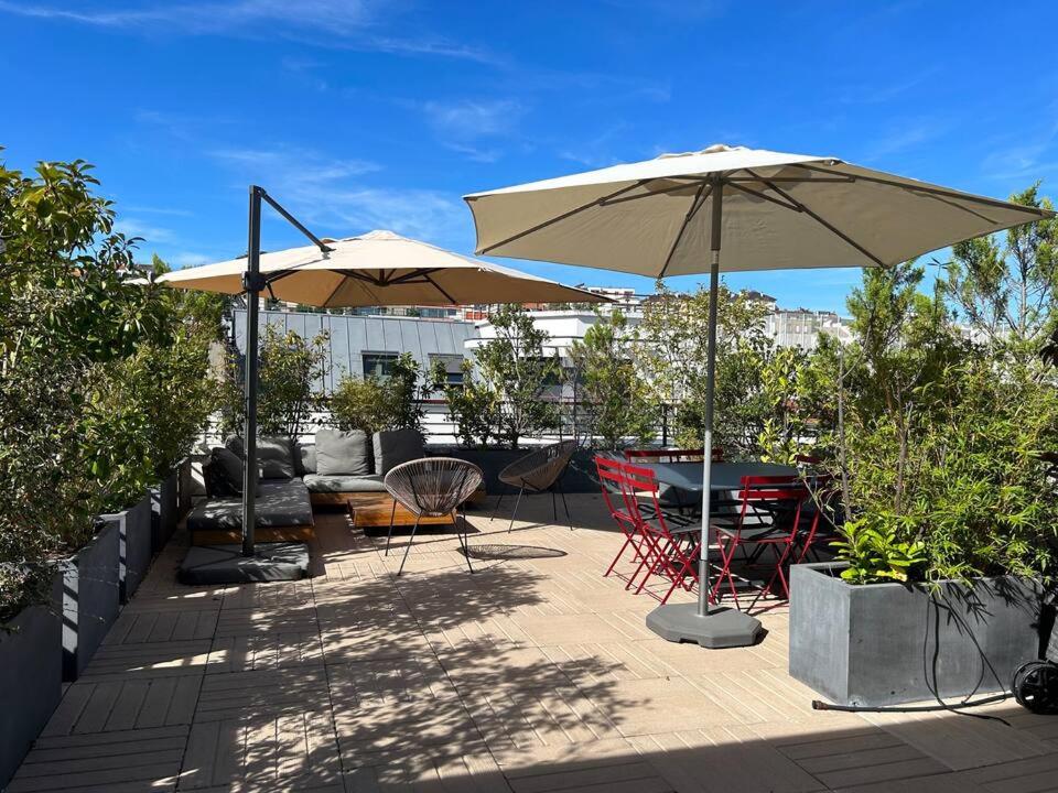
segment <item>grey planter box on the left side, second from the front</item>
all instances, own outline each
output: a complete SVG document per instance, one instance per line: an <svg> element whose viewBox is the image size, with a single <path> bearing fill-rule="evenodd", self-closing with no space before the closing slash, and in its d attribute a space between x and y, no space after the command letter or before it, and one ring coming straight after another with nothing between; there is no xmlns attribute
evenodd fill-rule
<svg viewBox="0 0 1058 793"><path fill-rule="evenodd" d="M99 533L63 563L63 680L85 670L118 617L118 526Z"/></svg>

